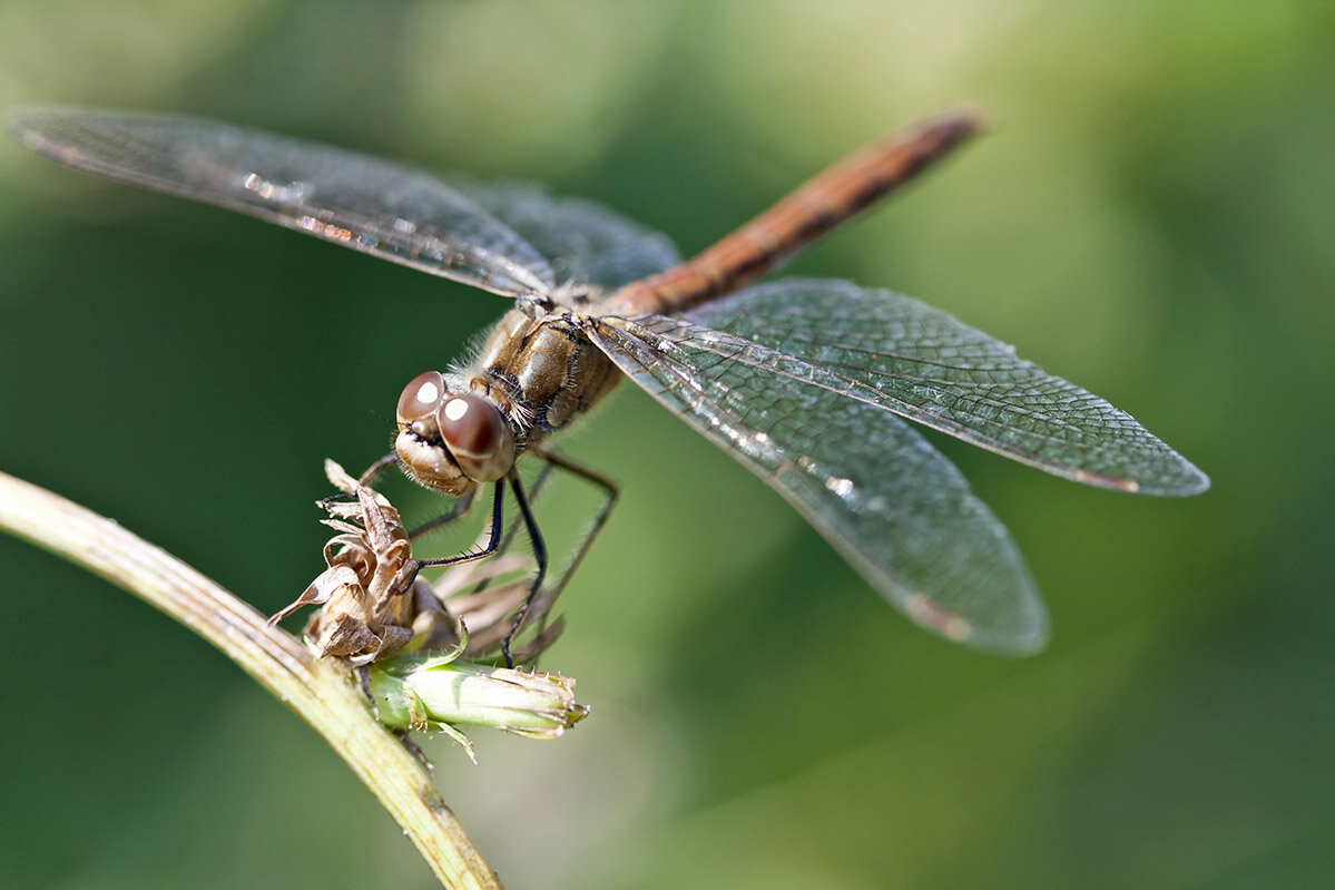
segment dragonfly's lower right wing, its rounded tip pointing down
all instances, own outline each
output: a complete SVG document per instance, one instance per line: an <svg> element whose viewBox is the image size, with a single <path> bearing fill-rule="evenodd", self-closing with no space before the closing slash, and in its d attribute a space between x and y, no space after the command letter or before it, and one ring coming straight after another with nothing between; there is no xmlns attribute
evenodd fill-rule
<svg viewBox="0 0 1335 890"><path fill-rule="evenodd" d="M995 652L1047 641L1047 613L1009 533L898 417L732 362L698 338L668 341L622 319L590 327L621 370L773 485L913 621Z"/></svg>

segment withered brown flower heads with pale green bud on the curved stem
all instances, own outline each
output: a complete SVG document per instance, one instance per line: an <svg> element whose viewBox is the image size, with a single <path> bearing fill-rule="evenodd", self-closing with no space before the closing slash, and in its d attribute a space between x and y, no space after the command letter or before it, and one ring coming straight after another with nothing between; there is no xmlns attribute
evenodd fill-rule
<svg viewBox="0 0 1335 890"><path fill-rule="evenodd" d="M322 657L370 664L363 688L382 724L446 732L471 758L461 726L554 739L589 714L574 700L573 679L457 660L494 651L509 632L510 616L531 589L530 557L459 563L427 584L418 577L398 510L334 461L324 472L356 500L322 501L330 513L322 521L339 532L324 547L328 568L270 621L319 605L306 625L307 645ZM537 604L530 615L545 617L550 597ZM559 631L559 621L541 627L517 652L535 657Z"/></svg>

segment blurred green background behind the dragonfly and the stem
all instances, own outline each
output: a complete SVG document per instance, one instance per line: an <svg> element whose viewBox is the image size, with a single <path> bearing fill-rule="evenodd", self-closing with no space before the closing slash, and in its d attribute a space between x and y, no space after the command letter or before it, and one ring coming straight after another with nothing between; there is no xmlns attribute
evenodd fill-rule
<svg viewBox="0 0 1335 890"><path fill-rule="evenodd" d="M1168 7L1168 8L1164 8ZM1335 875L1328 3L8 3L0 107L174 110L603 200L692 253L959 100L992 132L792 269L892 286L1136 414L1161 501L945 442L1053 641L928 637L625 386L546 667L559 743L433 742L514 887L1327 887ZM0 469L262 611L326 456L503 309L0 144ZM199 639L0 539L0 886L418 886L319 739Z"/></svg>

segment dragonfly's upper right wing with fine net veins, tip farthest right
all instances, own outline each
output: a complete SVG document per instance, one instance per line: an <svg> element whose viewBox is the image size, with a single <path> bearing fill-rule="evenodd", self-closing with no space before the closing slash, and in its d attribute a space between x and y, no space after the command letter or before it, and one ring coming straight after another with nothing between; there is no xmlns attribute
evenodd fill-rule
<svg viewBox="0 0 1335 890"><path fill-rule="evenodd" d="M685 318L638 319L721 366L789 377L885 408L1079 482L1196 494L1208 477L1125 412L952 315L888 290L782 279ZM726 331L726 333L721 333Z"/></svg>

